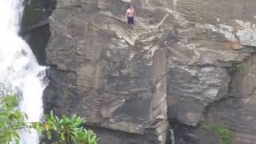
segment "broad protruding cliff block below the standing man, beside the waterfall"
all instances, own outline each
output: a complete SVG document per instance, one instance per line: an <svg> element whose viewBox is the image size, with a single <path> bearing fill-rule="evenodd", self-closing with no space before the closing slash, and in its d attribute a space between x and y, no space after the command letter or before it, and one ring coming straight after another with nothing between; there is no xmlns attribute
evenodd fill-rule
<svg viewBox="0 0 256 144"><path fill-rule="evenodd" d="M114 3L58 1L46 48L55 66L46 106L82 115L89 126L137 134L122 143L166 143L166 34L146 26L129 32L127 3L119 2L116 16L107 11ZM113 143L110 134L100 134L100 143Z"/></svg>

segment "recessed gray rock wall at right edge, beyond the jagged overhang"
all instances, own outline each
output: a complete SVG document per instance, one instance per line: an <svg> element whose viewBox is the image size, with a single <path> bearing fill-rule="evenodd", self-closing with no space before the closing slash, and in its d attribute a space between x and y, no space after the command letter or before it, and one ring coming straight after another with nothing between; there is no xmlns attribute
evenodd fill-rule
<svg viewBox="0 0 256 144"><path fill-rule="evenodd" d="M206 111L206 121L234 132L238 143L256 141L255 62L250 58L232 75L230 98L214 103Z"/></svg>

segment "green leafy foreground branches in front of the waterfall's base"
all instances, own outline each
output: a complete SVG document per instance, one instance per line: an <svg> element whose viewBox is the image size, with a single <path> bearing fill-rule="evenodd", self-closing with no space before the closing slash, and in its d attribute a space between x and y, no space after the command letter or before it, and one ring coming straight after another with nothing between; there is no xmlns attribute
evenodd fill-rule
<svg viewBox="0 0 256 144"><path fill-rule="evenodd" d="M82 127L84 118L74 114L71 118L54 116L53 112L45 116L44 122L26 122L26 114L18 110L18 98L14 94L0 91L0 143L19 143L19 130L35 129L54 143L59 144L97 144L98 138L92 130ZM57 139L57 140L56 140ZM49 143L49 142L47 142Z"/></svg>

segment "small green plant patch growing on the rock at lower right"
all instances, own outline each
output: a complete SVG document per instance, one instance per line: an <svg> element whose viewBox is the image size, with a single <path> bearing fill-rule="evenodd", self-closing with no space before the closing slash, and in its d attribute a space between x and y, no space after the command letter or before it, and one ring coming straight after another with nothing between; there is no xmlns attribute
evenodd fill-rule
<svg viewBox="0 0 256 144"><path fill-rule="evenodd" d="M204 130L209 130L210 132L213 132L215 134L218 134L218 138L222 139L223 144L232 144L232 135L230 133L230 130L222 127L215 126L210 123L201 123L199 125L200 128Z"/></svg>

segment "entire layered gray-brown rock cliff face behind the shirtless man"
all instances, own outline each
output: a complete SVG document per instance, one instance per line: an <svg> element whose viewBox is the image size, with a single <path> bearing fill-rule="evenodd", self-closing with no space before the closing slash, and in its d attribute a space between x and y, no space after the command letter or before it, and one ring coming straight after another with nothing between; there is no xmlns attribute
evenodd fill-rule
<svg viewBox="0 0 256 144"><path fill-rule="evenodd" d="M138 15L134 31L124 17L128 2ZM35 47L33 31L46 26L46 111L82 115L100 144L221 143L199 122L230 129L235 143L256 143L254 0L40 6L46 18L26 34Z"/></svg>

